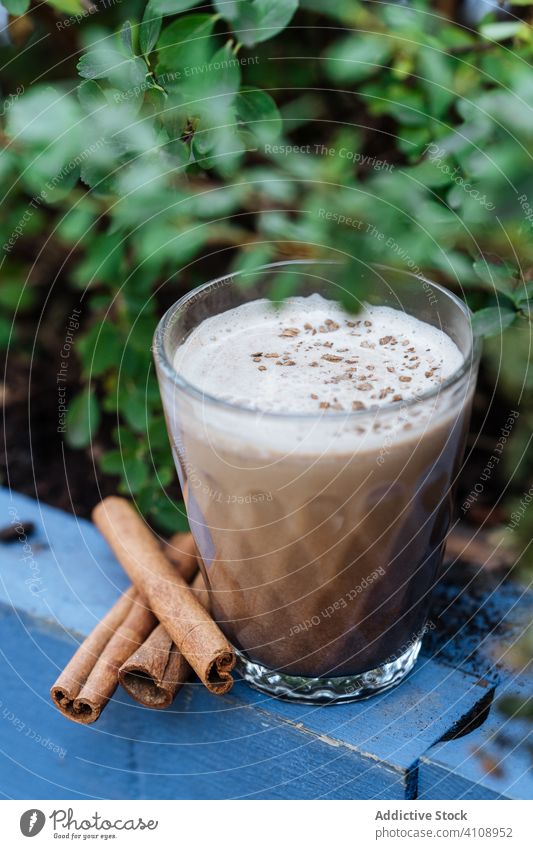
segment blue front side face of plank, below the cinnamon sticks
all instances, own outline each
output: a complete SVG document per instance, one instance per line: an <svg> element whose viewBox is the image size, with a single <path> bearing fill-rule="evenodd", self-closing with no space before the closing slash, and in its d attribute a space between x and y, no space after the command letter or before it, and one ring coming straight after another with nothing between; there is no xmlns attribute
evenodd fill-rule
<svg viewBox="0 0 533 849"><path fill-rule="evenodd" d="M6 608L0 624L1 785L13 798L405 798L405 775L254 709L242 682L223 699L193 684L165 712L119 691L95 725L69 723L48 687L71 646Z"/></svg>

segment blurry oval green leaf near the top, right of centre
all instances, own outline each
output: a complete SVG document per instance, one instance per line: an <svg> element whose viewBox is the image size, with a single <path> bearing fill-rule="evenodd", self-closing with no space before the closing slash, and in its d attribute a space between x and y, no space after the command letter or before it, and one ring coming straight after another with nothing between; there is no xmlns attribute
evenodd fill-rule
<svg viewBox="0 0 533 849"><path fill-rule="evenodd" d="M325 57L326 69L336 82L358 82L369 77L392 54L392 39L375 33L349 35L336 41ZM404 89L405 90L405 89Z"/></svg>

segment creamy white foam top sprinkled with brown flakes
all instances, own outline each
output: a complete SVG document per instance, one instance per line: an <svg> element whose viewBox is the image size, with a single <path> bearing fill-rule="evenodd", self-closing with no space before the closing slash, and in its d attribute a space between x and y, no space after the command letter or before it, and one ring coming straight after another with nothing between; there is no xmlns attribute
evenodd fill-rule
<svg viewBox="0 0 533 849"><path fill-rule="evenodd" d="M321 295L257 300L208 318L174 367L208 395L263 412L376 408L440 385L463 356L450 337L401 310L356 316Z"/></svg>

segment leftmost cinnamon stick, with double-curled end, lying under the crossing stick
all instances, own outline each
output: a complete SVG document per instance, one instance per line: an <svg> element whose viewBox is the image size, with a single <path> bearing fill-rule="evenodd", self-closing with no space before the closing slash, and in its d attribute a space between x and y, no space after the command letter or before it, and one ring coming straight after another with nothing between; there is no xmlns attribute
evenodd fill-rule
<svg viewBox="0 0 533 849"><path fill-rule="evenodd" d="M119 668L144 642L156 621L130 587L84 640L51 688L58 710L74 722L95 722L117 688Z"/></svg>

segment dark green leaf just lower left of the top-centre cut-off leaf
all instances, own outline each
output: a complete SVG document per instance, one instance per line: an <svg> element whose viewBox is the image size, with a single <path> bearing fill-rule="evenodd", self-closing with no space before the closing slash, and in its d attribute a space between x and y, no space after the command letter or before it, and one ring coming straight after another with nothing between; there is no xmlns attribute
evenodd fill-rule
<svg viewBox="0 0 533 849"><path fill-rule="evenodd" d="M170 81L187 79L191 70L208 62L212 52L213 15L187 15L165 27L157 42L157 73L167 73ZM170 82L170 85L169 85Z"/></svg>

